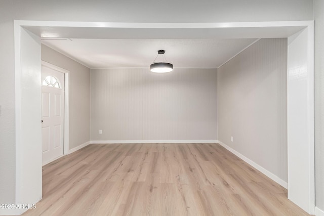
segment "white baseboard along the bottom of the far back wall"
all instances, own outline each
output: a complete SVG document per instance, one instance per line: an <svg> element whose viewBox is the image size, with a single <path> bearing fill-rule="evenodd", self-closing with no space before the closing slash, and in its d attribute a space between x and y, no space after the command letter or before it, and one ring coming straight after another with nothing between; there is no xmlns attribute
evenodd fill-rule
<svg viewBox="0 0 324 216"><path fill-rule="evenodd" d="M119 143L217 143L217 140L92 140L91 144Z"/></svg>

